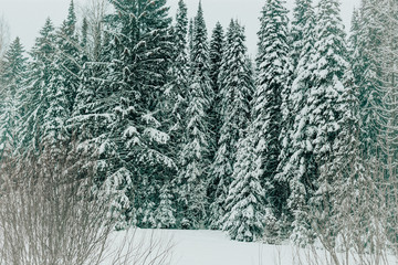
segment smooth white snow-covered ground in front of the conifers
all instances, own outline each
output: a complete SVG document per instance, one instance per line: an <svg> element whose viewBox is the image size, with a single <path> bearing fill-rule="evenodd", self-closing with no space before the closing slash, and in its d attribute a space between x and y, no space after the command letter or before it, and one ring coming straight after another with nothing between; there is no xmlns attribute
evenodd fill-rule
<svg viewBox="0 0 398 265"><path fill-rule="evenodd" d="M117 232L112 246L123 245L126 240L124 235L124 232ZM130 245L135 246L133 251L128 251L129 253L143 252L142 250L147 250L148 244L150 244L149 242L151 242L154 250L160 250L160 252L154 252L151 257L157 254L161 256L161 252L166 250L170 255L167 257L169 262L165 264L169 265L329 264L323 251L317 251L317 257L314 258L313 252L308 250L297 250L289 244L275 246L261 243L234 242L230 241L224 233L219 231L137 230L135 232L128 232L127 242L133 237L134 244ZM139 245L139 247L137 247L137 245ZM169 246L171 247L169 248ZM311 256L312 262L308 262L308 256ZM140 257L140 261L142 259L143 257ZM151 264L149 262L150 259L151 258L148 258L146 262L139 262L137 264ZM114 265L117 263L107 261L105 264ZM161 263L154 263L154 265L156 264ZM356 262L352 259L349 264L356 264ZM390 261L388 264L396 263Z"/></svg>

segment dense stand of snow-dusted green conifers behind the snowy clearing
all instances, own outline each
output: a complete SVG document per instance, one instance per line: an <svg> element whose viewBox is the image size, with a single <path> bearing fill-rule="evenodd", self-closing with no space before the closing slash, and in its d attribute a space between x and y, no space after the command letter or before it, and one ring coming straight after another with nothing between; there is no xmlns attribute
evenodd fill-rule
<svg viewBox="0 0 398 265"><path fill-rule="evenodd" d="M30 51L0 41L1 197L85 180L116 230L397 253L398 2L350 29L339 0L263 2L253 56L184 0L72 0Z"/></svg>

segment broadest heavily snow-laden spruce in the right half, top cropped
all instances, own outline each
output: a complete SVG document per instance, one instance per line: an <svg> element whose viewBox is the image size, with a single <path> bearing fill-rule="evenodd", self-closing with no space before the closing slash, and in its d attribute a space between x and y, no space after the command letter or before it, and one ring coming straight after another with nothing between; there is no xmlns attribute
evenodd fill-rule
<svg viewBox="0 0 398 265"><path fill-rule="evenodd" d="M321 0L315 36L317 41L308 62L312 87L304 91L305 103L298 115L298 139L304 138L302 142L305 145L293 155L301 179L291 184L296 189L291 188L290 203L295 218L292 239L298 244L306 244L314 236L310 229L314 211L324 213L315 213L316 222L326 222L324 218L333 219L332 198L338 190L336 176L345 169L341 150L352 137L349 129L356 120L352 87L347 82L349 64L338 1ZM297 200L301 203L295 208Z"/></svg>

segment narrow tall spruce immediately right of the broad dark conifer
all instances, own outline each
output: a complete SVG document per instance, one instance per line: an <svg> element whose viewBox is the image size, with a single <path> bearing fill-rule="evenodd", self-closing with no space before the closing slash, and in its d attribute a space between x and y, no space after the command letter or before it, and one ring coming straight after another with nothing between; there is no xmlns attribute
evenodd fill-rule
<svg viewBox="0 0 398 265"><path fill-rule="evenodd" d="M161 99L161 110L164 113L163 123L167 124L170 135L169 156L176 161L184 145L184 132L186 127L185 112L187 109L187 93L189 88L189 59L188 59L188 13L186 3L180 0L176 14L176 24L174 25L174 46L171 65L167 72L168 82L165 85L164 97ZM156 218L156 226L170 227L176 224L174 216L175 203L170 198L177 193L175 177L177 171L169 176L165 181L160 193L160 203L157 212L163 218ZM172 182L172 184L170 184ZM177 188L178 189L178 188ZM163 209L166 208L166 209ZM157 214L156 214L157 215Z"/></svg>

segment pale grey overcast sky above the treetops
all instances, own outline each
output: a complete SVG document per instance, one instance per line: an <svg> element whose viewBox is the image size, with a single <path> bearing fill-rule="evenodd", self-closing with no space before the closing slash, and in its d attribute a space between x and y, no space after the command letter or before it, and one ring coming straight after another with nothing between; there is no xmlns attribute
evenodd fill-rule
<svg viewBox="0 0 398 265"><path fill-rule="evenodd" d="M82 6L85 0L75 0ZM238 19L247 32L249 52L255 54L256 32L260 28L259 17L264 0L201 0L209 35L220 21L228 26L231 19ZM175 17L178 0L168 0L171 7L170 15ZM193 17L199 0L186 0L188 15ZM316 0L315 0L316 2ZM360 0L341 0L342 18L348 32L354 7L359 7ZM286 0L286 7L292 10L294 0ZM0 0L0 15L3 14L10 25L11 39L21 38L27 49L30 49L38 32L50 17L55 25L65 19L70 0Z"/></svg>

